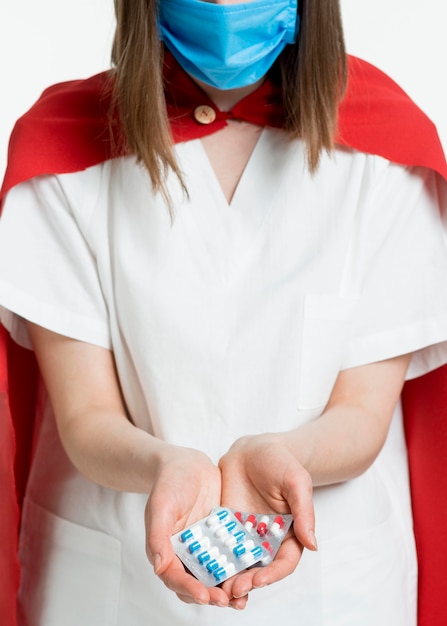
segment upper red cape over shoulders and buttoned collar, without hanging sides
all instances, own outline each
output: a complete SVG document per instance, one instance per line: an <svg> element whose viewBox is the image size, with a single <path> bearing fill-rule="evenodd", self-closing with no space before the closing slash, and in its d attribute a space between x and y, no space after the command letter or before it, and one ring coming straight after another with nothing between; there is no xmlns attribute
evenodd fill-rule
<svg viewBox="0 0 447 626"><path fill-rule="evenodd" d="M175 142L203 137L228 118L281 126L281 94L266 81L229 113L213 102L168 56L166 100ZM194 119L198 104L217 113L213 124ZM119 124L109 131L110 74L54 85L16 123L9 146L0 198L17 183L41 174L74 172L116 156L123 144ZM349 80L340 106L337 142L404 165L422 165L447 178L447 165L435 126L396 83L377 68L349 57ZM124 152L124 151L123 151Z"/></svg>

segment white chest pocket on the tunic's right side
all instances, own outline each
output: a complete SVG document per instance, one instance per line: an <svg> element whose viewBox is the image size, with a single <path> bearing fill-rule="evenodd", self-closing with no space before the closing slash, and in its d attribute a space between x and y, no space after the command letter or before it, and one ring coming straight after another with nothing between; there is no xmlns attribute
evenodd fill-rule
<svg viewBox="0 0 447 626"><path fill-rule="evenodd" d="M298 409L323 408L353 332L359 299L326 294L304 298Z"/></svg>

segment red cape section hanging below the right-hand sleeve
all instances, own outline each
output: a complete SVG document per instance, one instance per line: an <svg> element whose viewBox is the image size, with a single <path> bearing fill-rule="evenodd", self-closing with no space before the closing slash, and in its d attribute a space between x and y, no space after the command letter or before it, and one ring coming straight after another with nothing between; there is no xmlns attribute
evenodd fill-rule
<svg viewBox="0 0 447 626"><path fill-rule="evenodd" d="M402 401L419 562L418 624L446 626L447 365L407 382Z"/></svg>

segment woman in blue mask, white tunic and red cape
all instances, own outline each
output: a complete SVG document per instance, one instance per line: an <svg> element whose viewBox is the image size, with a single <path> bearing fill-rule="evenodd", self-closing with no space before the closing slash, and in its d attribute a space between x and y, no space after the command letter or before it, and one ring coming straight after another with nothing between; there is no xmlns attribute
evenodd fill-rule
<svg viewBox="0 0 447 626"><path fill-rule="evenodd" d="M360 87L394 93L372 68L339 107L335 0L116 12L115 69L44 94L6 182L2 321L49 396L19 623L415 624L398 400L447 362L436 166L356 128ZM170 537L219 504L294 529L208 588Z"/></svg>

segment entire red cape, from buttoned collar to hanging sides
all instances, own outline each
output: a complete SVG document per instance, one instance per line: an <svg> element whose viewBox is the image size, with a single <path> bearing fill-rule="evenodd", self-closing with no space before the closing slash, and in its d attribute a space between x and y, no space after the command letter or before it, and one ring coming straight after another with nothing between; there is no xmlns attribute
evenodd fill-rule
<svg viewBox="0 0 447 626"><path fill-rule="evenodd" d="M170 60L165 68L167 109L174 141L202 137L236 118L281 126L279 89L267 81L232 111L218 111ZM16 124L0 200L14 185L42 174L85 169L124 154L119 124L109 132L110 75L98 74L47 89ZM193 110L209 104L216 122L204 126ZM447 164L436 129L385 74L349 58L346 96L340 106L337 142L404 165L431 168L447 179ZM32 354L0 329L0 615L17 626L19 583L17 529L29 468L37 368ZM447 603L447 366L406 383L405 426L419 559L419 626L445 626ZM378 601L380 599L378 598Z"/></svg>

